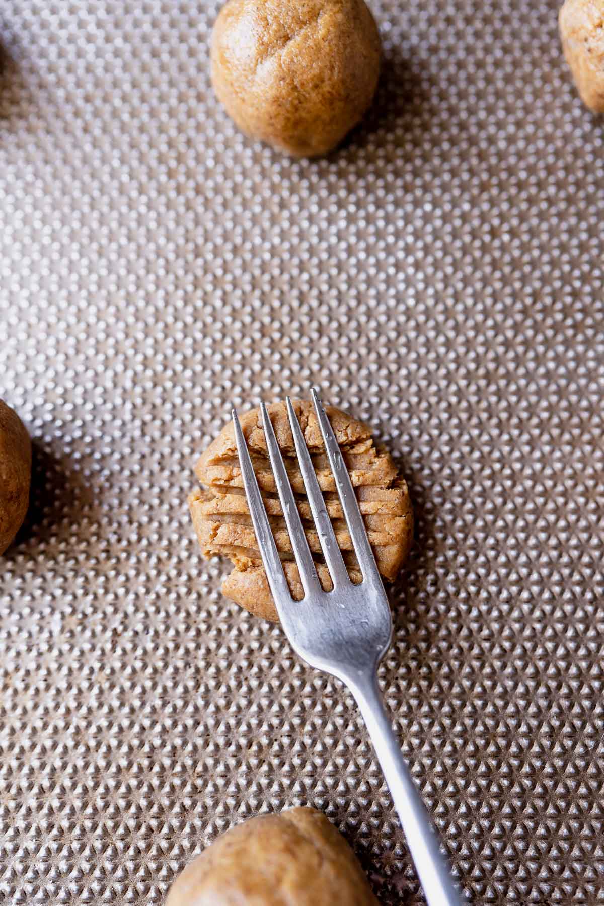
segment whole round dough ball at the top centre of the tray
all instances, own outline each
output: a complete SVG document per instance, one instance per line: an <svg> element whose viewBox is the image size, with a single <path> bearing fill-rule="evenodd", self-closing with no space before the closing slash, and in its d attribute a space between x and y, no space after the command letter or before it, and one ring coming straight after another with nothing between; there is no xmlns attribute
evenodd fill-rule
<svg viewBox="0 0 604 906"><path fill-rule="evenodd" d="M239 129L312 157L368 109L379 55L364 0L228 0L212 35L212 82Z"/></svg>

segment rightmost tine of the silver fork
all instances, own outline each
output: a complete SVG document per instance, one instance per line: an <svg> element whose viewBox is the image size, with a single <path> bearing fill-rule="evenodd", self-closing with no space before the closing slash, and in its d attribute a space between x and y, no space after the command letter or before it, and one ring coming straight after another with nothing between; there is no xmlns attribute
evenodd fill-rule
<svg viewBox="0 0 604 906"><path fill-rule="evenodd" d="M314 387L312 388L312 402L317 413L317 419L319 419L319 428L321 429L327 456L330 460L331 471L338 488L340 503L346 517L346 524L348 525L354 552L357 554L363 577L368 579L379 576L363 517L360 515L357 496L350 481L348 468L340 453L340 447L331 428L330 419L328 419L327 412L323 409L319 394Z"/></svg>

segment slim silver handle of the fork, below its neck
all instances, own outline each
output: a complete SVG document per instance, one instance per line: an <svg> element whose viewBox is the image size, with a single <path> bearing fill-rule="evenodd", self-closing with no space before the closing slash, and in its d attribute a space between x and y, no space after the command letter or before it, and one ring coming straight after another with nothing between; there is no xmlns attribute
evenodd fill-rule
<svg viewBox="0 0 604 906"><path fill-rule="evenodd" d="M465 897L454 887L446 858L440 851L440 841L400 751L384 708L378 678L373 674L370 679L350 684L350 688L367 724L379 764L394 799L428 906L467 904Z"/></svg>

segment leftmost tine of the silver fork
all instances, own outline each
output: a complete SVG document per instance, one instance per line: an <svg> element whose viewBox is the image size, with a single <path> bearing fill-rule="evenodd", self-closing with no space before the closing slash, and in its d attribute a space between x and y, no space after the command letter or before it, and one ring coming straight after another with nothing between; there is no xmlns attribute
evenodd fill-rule
<svg viewBox="0 0 604 906"><path fill-rule="evenodd" d="M277 550L277 545L274 543L271 525L268 521L268 516L266 516L266 510L264 509L264 502L260 493L260 488L258 487L254 466L252 465L252 460L247 445L245 444L244 432L241 429L235 410L232 410L232 415L233 425L235 427L235 443L237 445L241 475L244 479L247 506L250 510L250 516L252 516L252 525L254 525L258 549L264 564L264 572L266 573L266 578L271 593L273 594L277 611L279 611L280 602L287 601L288 598L292 600L292 595L290 594L290 587L287 584L285 573L283 573L283 565L281 563L279 551ZM279 615L281 616L281 612L279 612Z"/></svg>

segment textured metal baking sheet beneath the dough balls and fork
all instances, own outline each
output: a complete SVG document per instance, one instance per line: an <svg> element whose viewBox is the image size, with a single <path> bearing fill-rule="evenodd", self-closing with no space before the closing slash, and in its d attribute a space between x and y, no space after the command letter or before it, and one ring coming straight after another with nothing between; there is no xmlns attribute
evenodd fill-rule
<svg viewBox="0 0 604 906"><path fill-rule="evenodd" d="M5 0L0 395L34 494L0 579L0 897L159 903L316 805L420 902L359 715L218 593L187 514L231 403L381 432L417 543L381 678L468 892L604 901L604 125L558 5L376 0L328 159L245 140L203 0Z"/></svg>

